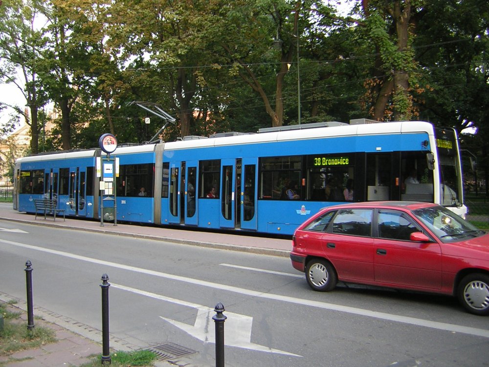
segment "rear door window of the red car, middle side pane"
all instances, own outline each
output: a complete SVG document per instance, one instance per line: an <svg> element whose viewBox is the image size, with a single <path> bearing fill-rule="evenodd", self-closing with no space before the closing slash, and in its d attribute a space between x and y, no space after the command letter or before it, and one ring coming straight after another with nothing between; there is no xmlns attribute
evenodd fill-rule
<svg viewBox="0 0 489 367"><path fill-rule="evenodd" d="M333 233L372 235L372 209L342 209L333 219Z"/></svg>

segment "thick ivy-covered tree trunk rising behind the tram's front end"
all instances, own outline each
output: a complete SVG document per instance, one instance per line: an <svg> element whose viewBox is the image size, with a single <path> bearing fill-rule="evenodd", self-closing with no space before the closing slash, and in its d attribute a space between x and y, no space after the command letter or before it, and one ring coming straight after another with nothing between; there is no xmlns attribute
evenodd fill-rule
<svg viewBox="0 0 489 367"><path fill-rule="evenodd" d="M372 40L376 59L368 88L371 114L376 120L409 120L414 115L412 90L416 60L412 48L415 0L363 0L360 23Z"/></svg>

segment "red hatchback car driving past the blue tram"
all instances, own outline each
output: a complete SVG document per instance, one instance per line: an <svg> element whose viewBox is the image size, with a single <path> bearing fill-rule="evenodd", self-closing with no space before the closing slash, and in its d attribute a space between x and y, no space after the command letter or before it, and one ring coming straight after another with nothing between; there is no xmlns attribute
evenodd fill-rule
<svg viewBox="0 0 489 367"><path fill-rule="evenodd" d="M454 295L489 314L489 234L430 203L330 206L296 229L292 266L315 291L338 280Z"/></svg>

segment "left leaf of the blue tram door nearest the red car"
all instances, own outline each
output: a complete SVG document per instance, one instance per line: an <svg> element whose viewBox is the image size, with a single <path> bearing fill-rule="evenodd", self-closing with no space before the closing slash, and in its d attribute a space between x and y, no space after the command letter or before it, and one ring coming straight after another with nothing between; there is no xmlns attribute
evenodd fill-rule
<svg viewBox="0 0 489 367"><path fill-rule="evenodd" d="M240 167L241 171L241 167ZM235 228L235 187L236 160L221 160L221 215L219 224L223 228ZM241 172L240 172L241 174Z"/></svg>

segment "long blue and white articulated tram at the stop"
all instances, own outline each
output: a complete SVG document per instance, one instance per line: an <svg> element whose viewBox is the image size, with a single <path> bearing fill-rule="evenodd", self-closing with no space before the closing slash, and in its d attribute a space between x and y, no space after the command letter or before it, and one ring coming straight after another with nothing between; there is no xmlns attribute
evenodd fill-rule
<svg viewBox="0 0 489 367"><path fill-rule="evenodd" d="M344 201L427 201L465 216L453 129L403 121L325 122L118 146L117 221L292 234ZM100 149L20 158L14 208L54 198L100 218Z"/></svg>

